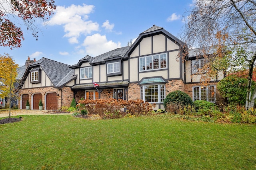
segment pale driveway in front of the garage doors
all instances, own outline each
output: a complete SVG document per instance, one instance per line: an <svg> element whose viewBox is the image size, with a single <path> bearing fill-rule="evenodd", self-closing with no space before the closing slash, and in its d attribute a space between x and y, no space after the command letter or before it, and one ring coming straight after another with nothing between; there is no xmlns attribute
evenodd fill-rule
<svg viewBox="0 0 256 170"><path fill-rule="evenodd" d="M26 109L15 109L11 110L11 116L16 115L71 115L72 113L54 113L49 110L26 110ZM8 117L9 110L0 109L0 117Z"/></svg>

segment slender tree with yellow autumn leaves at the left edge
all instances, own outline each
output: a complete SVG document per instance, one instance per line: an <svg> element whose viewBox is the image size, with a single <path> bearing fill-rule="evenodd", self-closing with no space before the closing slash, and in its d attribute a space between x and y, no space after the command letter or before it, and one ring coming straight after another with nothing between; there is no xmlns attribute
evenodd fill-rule
<svg viewBox="0 0 256 170"><path fill-rule="evenodd" d="M11 117L11 99L16 96L14 83L17 78L18 64L8 54L0 56L0 96L9 98L9 117Z"/></svg>

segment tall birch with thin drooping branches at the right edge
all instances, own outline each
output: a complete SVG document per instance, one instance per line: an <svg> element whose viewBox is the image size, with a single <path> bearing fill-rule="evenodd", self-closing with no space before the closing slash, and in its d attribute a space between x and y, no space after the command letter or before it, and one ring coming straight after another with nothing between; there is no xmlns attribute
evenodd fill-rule
<svg viewBox="0 0 256 170"><path fill-rule="evenodd" d="M183 37L189 47L214 45L213 61L221 63L221 69L245 66L248 70L246 108L253 107L256 97L256 90L251 93L256 61L256 0L196 0L186 21ZM223 49L228 53L222 53ZM218 65L208 67L220 70Z"/></svg>

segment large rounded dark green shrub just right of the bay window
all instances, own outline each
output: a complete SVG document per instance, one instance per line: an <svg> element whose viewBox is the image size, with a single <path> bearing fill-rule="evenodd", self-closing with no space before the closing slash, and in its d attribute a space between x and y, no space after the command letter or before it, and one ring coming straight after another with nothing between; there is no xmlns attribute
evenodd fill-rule
<svg viewBox="0 0 256 170"><path fill-rule="evenodd" d="M166 98L164 99L164 108L166 108L167 104L170 104L170 103L180 103L182 105L192 105L193 104L190 96L188 96L188 94L186 94L180 90L170 92L166 96Z"/></svg>

